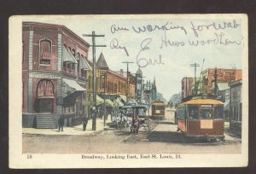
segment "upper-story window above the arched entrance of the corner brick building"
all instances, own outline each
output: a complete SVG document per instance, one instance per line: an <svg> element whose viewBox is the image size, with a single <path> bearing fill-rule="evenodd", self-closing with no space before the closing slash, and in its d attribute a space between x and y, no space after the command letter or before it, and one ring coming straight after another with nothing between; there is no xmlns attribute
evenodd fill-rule
<svg viewBox="0 0 256 174"><path fill-rule="evenodd" d="M40 40L40 64L49 65L51 59L52 44L47 38Z"/></svg>

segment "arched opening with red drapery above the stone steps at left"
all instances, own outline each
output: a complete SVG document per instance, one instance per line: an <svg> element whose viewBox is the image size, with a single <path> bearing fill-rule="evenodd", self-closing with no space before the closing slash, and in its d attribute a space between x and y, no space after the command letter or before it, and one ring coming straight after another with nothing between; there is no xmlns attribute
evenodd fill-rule
<svg viewBox="0 0 256 174"><path fill-rule="evenodd" d="M54 84L49 79L42 79L37 86L37 105L38 113L53 113Z"/></svg>

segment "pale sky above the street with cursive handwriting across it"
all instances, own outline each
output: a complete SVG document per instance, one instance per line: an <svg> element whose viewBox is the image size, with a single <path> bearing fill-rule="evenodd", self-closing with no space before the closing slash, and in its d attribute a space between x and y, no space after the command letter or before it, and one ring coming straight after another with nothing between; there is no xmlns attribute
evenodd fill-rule
<svg viewBox="0 0 256 174"><path fill-rule="evenodd" d="M146 80L153 82L155 78L157 90L166 100L181 92L182 78L195 76L194 67L190 67L192 63L200 65L197 76L201 69L207 68L241 69L242 51L247 41L242 32L245 26L236 15L227 18L212 18L207 15L199 18L190 18L189 15L167 15L165 18L129 16L126 19L120 16L108 16L108 19L104 16L41 16L29 17L23 21L67 26L89 44L92 44L91 38L83 37L83 34L95 31L96 34L105 35L103 38L96 38L96 44L107 45L96 48L96 60L102 53L113 71L126 71L126 64L122 61L132 61L129 71L136 73L140 66ZM193 42L198 42L198 45L193 45ZM91 59L90 48L89 60Z"/></svg>

